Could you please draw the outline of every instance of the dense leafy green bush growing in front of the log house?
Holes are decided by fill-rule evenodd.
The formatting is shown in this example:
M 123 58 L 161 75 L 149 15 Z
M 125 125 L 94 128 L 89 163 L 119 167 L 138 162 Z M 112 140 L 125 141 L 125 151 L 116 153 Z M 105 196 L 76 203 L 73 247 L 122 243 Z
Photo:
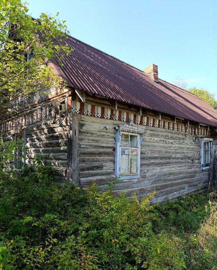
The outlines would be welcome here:
M 41 170 L 1 173 L 4 269 L 185 268 L 180 238 L 152 229 L 152 195 L 139 202 L 113 196 L 112 187 L 60 187 Z

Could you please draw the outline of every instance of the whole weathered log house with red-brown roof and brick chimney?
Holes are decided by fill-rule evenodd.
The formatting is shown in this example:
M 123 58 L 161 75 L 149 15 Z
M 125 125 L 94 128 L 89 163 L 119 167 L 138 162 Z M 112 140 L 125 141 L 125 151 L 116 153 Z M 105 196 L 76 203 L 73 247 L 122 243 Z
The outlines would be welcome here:
M 115 194 L 156 190 L 153 202 L 216 182 L 216 110 L 159 79 L 154 64 L 142 71 L 75 38 L 63 42 L 74 52 L 53 65 L 67 82 L 49 95 L 58 112 L 38 107 L 2 124 L 6 140 L 24 138 L 26 159 L 16 149 L 15 169 L 40 154 L 57 181 L 103 189 L 120 176 Z

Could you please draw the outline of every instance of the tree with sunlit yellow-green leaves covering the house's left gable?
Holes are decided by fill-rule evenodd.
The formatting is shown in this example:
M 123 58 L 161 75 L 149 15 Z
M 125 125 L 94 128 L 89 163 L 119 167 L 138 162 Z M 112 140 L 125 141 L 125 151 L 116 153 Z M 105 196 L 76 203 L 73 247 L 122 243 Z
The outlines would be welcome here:
M 54 75 L 51 63 L 69 48 L 65 20 L 45 13 L 39 19 L 27 14 L 27 3 L 0 0 L 0 123 L 12 121 L 47 100 L 45 93 L 64 82 Z

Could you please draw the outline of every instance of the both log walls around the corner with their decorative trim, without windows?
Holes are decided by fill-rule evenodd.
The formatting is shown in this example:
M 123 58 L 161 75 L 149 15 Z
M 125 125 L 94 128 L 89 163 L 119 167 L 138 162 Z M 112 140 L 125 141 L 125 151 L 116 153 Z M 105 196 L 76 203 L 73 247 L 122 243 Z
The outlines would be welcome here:
M 119 180 L 115 194 L 142 197 L 156 190 L 153 202 L 162 202 L 209 186 L 209 169 L 200 169 L 200 147 L 193 141 L 194 133 L 210 137 L 208 126 L 88 94 L 84 102 L 73 95 L 65 100 L 66 117 L 41 121 L 39 110 L 36 122 L 26 126 L 26 164 L 33 165 L 40 154 L 42 163 L 54 168 L 57 181 L 83 187 L 95 181 L 102 190 L 116 178 L 116 128 L 131 122 L 144 129 L 140 178 Z

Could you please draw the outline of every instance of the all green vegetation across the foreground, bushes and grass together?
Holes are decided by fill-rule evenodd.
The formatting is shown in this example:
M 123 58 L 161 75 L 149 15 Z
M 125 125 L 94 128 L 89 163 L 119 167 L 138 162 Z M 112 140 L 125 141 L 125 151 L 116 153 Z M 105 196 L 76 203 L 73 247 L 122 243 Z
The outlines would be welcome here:
M 151 205 L 51 172 L 1 172 L 0 269 L 217 269 L 216 193 Z

